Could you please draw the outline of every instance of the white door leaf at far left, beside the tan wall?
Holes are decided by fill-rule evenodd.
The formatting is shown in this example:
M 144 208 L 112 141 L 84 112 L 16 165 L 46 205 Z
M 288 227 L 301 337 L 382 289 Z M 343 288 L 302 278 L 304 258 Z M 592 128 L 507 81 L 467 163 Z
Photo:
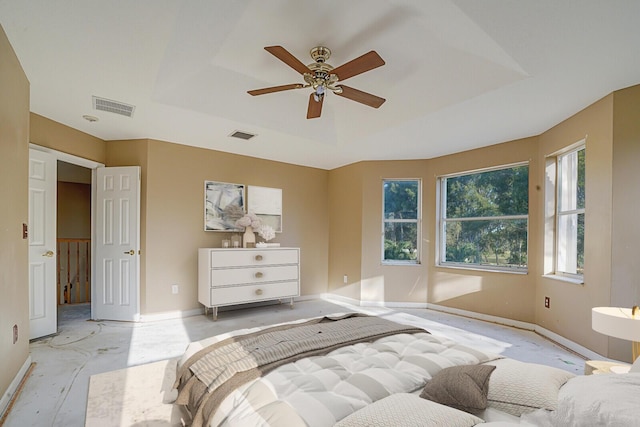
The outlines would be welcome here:
M 56 157 L 29 150 L 29 338 L 56 333 Z

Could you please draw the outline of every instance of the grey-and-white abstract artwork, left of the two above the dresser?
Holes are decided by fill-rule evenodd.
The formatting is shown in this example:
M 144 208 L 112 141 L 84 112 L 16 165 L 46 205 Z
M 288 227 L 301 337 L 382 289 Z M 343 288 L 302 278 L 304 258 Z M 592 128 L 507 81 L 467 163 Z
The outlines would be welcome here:
M 236 220 L 245 211 L 245 188 L 243 184 L 228 182 L 204 182 L 204 230 L 242 231 Z

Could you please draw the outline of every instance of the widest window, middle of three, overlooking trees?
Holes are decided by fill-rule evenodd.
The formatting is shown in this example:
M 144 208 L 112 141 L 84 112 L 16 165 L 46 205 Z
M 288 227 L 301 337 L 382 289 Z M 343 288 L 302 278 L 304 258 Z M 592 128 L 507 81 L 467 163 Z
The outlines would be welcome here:
M 529 166 L 440 178 L 439 265 L 527 270 Z

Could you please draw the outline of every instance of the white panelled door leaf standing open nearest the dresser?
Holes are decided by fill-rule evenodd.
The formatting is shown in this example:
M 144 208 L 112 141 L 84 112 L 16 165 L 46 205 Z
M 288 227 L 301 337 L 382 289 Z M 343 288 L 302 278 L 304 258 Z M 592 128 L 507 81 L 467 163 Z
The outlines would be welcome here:
M 140 167 L 96 169 L 93 318 L 140 320 Z

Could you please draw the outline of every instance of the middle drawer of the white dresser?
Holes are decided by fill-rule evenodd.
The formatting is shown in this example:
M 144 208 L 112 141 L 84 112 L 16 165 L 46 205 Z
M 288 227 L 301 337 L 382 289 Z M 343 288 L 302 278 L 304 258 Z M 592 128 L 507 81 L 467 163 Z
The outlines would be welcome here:
M 220 268 L 211 271 L 211 286 L 298 280 L 297 265 Z

